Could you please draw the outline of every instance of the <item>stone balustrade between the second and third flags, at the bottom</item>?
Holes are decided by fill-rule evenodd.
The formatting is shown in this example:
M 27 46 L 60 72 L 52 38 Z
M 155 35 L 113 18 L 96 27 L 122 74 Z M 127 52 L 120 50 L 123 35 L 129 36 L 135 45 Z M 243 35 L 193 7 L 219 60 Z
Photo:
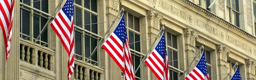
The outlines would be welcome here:
M 75 59 L 75 80 L 103 80 L 104 69 Z

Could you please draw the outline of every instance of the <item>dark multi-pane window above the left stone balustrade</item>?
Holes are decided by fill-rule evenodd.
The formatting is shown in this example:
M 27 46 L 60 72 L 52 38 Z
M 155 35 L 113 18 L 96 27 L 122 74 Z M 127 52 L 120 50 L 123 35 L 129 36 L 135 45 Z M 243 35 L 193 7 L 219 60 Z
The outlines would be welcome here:
M 32 1 L 36 2 L 30 3 Z M 20 37 L 34 42 L 50 16 L 49 2 L 48 0 L 20 0 L 20 2 Z M 38 40 L 38 44 L 48 47 L 47 28 Z

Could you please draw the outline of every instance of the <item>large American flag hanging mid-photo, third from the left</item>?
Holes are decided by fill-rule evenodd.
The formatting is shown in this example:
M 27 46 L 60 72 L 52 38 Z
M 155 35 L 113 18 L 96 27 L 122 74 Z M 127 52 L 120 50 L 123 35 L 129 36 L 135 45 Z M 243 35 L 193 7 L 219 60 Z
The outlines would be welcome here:
M 121 20 L 119 21 L 116 29 L 102 44 L 102 48 L 121 68 L 121 71 L 124 73 L 125 80 L 135 80 L 124 15 L 121 16 Z

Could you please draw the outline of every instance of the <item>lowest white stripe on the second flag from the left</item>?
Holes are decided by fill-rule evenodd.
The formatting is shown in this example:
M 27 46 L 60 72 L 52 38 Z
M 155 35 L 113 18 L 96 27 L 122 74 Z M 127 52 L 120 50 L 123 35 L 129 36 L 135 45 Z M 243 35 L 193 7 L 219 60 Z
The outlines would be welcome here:
M 53 24 L 53 27 L 56 28 L 57 32 L 60 32 L 59 34 L 60 34 L 61 38 L 63 39 L 64 43 L 65 43 L 66 46 L 68 47 L 68 50 L 70 50 L 70 45 L 69 45 L 69 43 L 68 43 L 66 37 L 63 35 L 63 33 L 61 33 L 60 28 L 57 26 L 57 24 L 55 23 L 54 20 L 53 20 L 52 24 Z M 70 51 L 69 51 L 69 52 L 70 52 Z

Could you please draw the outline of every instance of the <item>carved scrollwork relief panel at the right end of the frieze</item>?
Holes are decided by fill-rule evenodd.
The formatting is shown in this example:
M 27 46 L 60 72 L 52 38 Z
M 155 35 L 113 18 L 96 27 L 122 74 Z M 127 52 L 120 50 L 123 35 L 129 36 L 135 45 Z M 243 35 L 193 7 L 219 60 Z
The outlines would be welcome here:
M 227 42 L 239 47 L 240 49 L 245 50 L 246 52 L 248 51 L 248 45 L 247 44 L 241 42 L 240 40 L 237 40 L 234 37 L 231 37 L 230 35 L 226 34 L 226 39 L 225 40 Z

